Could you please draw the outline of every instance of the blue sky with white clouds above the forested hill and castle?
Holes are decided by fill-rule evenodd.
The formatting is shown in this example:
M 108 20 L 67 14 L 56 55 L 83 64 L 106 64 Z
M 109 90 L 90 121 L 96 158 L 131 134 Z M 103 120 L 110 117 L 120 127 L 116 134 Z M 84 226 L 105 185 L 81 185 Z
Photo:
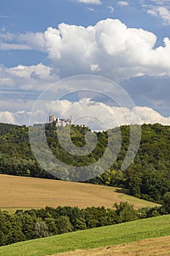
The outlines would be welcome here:
M 85 89 L 98 97 L 74 93 Z M 11 124 L 48 113 L 84 115 L 93 129 L 96 118 L 170 124 L 170 1 L 1 1 L 0 91 L 0 121 Z

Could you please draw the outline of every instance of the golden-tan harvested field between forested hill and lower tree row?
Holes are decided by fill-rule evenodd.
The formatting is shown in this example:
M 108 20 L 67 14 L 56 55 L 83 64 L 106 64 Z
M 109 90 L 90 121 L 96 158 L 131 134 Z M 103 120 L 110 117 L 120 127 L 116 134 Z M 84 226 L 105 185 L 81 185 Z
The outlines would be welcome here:
M 105 206 L 128 201 L 134 208 L 155 206 L 155 203 L 140 200 L 118 192 L 120 189 L 69 181 L 55 181 L 43 178 L 27 178 L 0 175 L 0 208 L 15 211 L 23 208 L 45 206 Z

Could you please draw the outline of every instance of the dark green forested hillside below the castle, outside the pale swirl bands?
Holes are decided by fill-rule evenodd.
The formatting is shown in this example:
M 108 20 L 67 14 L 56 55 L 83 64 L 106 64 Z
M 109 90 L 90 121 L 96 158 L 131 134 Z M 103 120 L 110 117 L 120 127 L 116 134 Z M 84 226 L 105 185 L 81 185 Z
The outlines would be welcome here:
M 121 171 L 120 167 L 128 150 L 130 128 L 123 126 L 120 129 L 122 143 L 117 160 L 106 172 L 85 182 L 122 187 L 130 195 L 162 203 L 163 195 L 170 192 L 170 127 L 161 124 L 143 124 L 139 151 L 134 161 L 124 171 Z M 87 127 L 72 126 L 71 138 L 75 146 L 85 146 L 85 133 L 88 131 Z M 116 129 L 109 131 L 113 137 L 117 136 L 115 131 Z M 58 141 L 55 125 L 46 125 L 46 135 L 53 154 L 68 166 L 90 165 L 100 159 L 107 148 L 107 131 L 96 132 L 98 136 L 96 148 L 83 157 L 64 151 Z M 45 153 L 42 148 L 42 154 Z M 55 172 L 57 176 L 57 173 L 62 173 L 62 170 L 56 166 Z M 98 173 L 98 170 L 90 170 L 90 172 Z M 100 172 L 102 173 L 101 170 Z M 0 124 L 0 173 L 55 178 L 36 162 L 28 140 L 28 127 L 12 124 Z M 81 173 L 71 173 L 70 177 L 63 174 L 62 178 L 76 180 L 79 175 Z

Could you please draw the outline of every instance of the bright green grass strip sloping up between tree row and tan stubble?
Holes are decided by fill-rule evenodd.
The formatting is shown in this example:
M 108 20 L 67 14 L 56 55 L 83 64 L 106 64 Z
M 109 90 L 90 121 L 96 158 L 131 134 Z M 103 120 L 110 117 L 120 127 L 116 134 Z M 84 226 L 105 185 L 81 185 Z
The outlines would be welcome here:
M 170 215 L 81 230 L 0 247 L 3 256 L 46 256 L 77 249 L 129 244 L 170 235 Z

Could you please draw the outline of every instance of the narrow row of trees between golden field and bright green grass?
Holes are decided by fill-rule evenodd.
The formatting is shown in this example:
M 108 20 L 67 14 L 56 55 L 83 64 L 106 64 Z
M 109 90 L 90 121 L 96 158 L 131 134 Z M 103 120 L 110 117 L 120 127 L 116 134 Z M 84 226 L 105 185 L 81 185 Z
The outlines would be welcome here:
M 114 209 L 91 207 L 46 207 L 28 211 L 17 210 L 15 214 L 0 211 L 0 246 L 34 238 L 85 230 L 93 227 L 115 225 L 135 219 L 160 216 L 170 213 L 170 195 L 167 194 L 163 206 L 134 210 L 126 202 Z M 167 200 L 169 204 L 167 204 Z M 169 207 L 167 207 L 169 205 Z

